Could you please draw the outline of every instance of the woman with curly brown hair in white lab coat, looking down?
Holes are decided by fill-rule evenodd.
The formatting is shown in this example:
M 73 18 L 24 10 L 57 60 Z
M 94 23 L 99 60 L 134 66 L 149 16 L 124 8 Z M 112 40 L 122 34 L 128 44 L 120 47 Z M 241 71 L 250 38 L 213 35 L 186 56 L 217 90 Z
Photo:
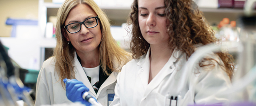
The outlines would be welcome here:
M 111 105 L 187 106 L 228 101 L 215 94 L 231 83 L 231 55 L 208 53 L 193 67 L 193 74 L 183 74 L 197 48 L 219 41 L 193 0 L 134 0 L 130 24 L 133 60 L 117 76 Z M 197 83 L 191 85 L 194 80 Z

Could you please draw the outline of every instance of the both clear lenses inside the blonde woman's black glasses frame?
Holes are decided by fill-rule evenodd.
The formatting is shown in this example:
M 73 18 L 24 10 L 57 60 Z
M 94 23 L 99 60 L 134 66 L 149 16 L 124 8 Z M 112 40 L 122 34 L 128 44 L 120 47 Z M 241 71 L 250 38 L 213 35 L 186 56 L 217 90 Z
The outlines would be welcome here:
M 89 18 L 85 20 L 84 24 L 87 28 L 95 27 L 98 23 L 97 18 Z M 70 33 L 75 33 L 80 30 L 81 25 L 79 23 L 73 23 L 67 26 L 67 29 Z

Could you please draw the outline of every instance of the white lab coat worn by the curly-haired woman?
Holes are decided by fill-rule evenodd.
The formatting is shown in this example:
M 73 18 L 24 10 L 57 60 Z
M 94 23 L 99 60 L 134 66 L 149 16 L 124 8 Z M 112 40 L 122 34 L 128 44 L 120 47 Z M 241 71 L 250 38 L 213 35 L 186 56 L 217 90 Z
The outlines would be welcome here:
M 181 76 L 186 71 L 184 65 L 187 61 L 186 54 L 182 51 L 174 51 L 169 61 L 148 84 L 149 51 L 150 48 L 140 59 L 133 59 L 123 66 L 117 76 L 115 98 L 111 106 L 169 106 L 171 96 L 173 99 L 177 96 L 177 106 L 228 101 L 226 97 L 214 95 L 228 88 L 231 83 L 223 70 L 225 68 L 214 62 L 215 67 L 208 67 L 210 70 L 198 65 L 192 73 L 187 72 L 188 74 Z M 222 63 L 218 55 L 213 53 L 205 57 Z M 191 78 L 181 80 L 186 77 Z M 198 82 L 193 85 L 195 80 Z M 171 104 L 176 106 L 176 101 L 172 100 Z

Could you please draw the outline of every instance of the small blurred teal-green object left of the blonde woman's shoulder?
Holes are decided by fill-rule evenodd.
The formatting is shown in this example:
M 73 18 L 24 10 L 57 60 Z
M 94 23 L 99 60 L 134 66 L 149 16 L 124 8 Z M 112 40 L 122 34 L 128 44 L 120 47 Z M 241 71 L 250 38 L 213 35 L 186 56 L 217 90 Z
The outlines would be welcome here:
M 28 73 L 26 74 L 24 82 L 36 83 L 38 73 L 39 73 L 39 70 L 28 69 Z

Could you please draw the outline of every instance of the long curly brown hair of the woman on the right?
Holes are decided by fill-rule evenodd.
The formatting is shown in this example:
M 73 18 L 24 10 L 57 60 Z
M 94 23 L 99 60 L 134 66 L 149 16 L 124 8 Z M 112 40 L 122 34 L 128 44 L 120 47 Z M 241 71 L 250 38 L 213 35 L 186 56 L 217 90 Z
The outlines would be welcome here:
M 209 44 L 220 42 L 214 37 L 212 28 L 203 16 L 203 12 L 198 9 L 198 6 L 193 0 L 164 0 L 166 21 L 169 21 L 167 33 L 170 36 L 169 48 L 183 51 L 187 55 L 187 59 L 194 53 L 195 44 Z M 130 31 L 132 39 L 130 42 L 130 51 L 134 59 L 139 59 L 141 55 L 147 53 L 150 45 L 143 38 L 139 28 L 139 9 L 138 0 L 134 0 L 132 4 L 132 12 L 130 12 L 129 24 L 132 25 Z M 227 75 L 232 79 L 234 71 L 234 63 L 232 55 L 228 53 L 216 53 L 223 61 Z M 199 66 L 204 61 L 212 59 L 203 59 Z

